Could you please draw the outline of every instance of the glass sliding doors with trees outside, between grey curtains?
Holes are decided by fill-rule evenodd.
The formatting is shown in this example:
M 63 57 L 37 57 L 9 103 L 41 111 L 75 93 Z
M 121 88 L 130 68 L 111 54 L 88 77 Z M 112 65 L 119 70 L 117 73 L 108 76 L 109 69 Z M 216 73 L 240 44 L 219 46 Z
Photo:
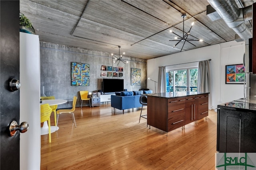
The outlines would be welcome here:
M 198 67 L 166 71 L 166 92 L 197 91 Z

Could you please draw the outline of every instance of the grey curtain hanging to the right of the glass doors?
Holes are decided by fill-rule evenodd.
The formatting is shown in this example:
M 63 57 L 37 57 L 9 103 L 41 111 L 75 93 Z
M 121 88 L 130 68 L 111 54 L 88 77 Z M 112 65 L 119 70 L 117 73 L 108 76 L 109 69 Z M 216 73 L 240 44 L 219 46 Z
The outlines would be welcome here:
M 198 64 L 198 81 L 197 81 L 197 91 L 198 92 L 209 92 L 209 108 L 212 108 L 212 76 L 210 69 L 210 61 L 199 61 Z

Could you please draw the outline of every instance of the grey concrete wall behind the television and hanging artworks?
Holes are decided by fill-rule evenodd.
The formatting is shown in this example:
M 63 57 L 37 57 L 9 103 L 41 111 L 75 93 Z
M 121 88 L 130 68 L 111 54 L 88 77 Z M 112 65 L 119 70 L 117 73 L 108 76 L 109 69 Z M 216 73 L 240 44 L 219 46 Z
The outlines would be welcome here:
M 120 53 L 123 53 L 120 49 Z M 113 51 L 118 54 L 118 51 Z M 77 106 L 80 106 L 79 91 L 94 92 L 102 89 L 102 79 L 112 77 L 101 77 L 101 65 L 113 67 L 123 67 L 123 77 L 114 77 L 124 79 L 124 89 L 128 91 L 146 88 L 147 85 L 147 61 L 132 57 L 123 57 L 128 61 L 118 65 L 112 61 L 110 53 L 101 51 L 92 51 L 88 49 L 70 47 L 54 43 L 40 42 L 40 65 L 41 65 L 41 86 L 44 86 L 46 96 L 55 96 L 56 99 L 67 99 L 68 103 L 58 105 L 58 108 L 72 107 L 72 99 L 78 97 Z M 90 85 L 89 86 L 71 86 L 71 63 L 90 64 Z M 131 68 L 141 69 L 141 86 L 131 85 Z M 33 78 L 33 77 L 32 77 Z M 83 105 L 88 105 L 83 102 Z

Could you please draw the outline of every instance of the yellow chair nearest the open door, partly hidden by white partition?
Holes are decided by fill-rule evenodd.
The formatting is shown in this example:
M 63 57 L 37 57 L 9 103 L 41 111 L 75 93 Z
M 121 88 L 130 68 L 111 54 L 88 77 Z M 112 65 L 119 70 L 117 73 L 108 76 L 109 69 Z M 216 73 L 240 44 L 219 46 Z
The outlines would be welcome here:
M 49 128 L 49 143 L 51 142 L 51 121 L 50 116 L 52 113 L 52 108 L 48 103 L 41 105 L 41 123 L 48 121 Z

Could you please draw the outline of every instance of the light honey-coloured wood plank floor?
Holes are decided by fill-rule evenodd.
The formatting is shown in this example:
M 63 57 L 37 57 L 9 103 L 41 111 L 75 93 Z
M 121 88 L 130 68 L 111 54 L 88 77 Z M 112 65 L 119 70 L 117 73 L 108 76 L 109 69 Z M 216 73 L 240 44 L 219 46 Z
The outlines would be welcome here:
M 217 113 L 168 132 L 147 127 L 140 108 L 114 115 L 110 104 L 76 107 L 59 117 L 59 130 L 41 136 L 41 170 L 214 170 Z M 143 107 L 142 114 L 146 113 Z M 52 114 L 53 115 L 53 114 Z M 51 117 L 51 124 L 54 119 Z

